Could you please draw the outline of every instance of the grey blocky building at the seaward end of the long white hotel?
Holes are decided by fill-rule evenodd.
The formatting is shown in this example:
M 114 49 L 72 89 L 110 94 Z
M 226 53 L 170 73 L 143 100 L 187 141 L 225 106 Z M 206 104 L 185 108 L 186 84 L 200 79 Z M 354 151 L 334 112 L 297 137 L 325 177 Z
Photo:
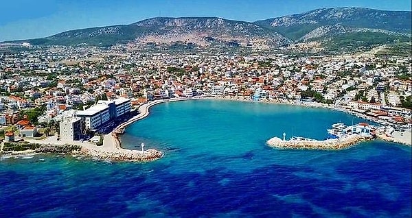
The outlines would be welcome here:
M 60 140 L 76 141 L 82 136 L 82 119 L 79 117 L 70 117 L 60 121 Z

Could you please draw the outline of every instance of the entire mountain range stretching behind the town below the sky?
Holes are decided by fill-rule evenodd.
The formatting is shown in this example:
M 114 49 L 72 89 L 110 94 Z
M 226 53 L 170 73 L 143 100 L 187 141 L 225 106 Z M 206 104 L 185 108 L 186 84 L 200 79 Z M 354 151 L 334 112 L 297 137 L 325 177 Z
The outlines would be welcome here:
M 45 38 L 6 43 L 91 46 L 183 43 L 201 47 L 217 45 L 271 48 L 313 40 L 324 43 L 336 37 L 354 36 L 354 33 L 380 38 L 376 42 L 366 43 L 367 45 L 408 40 L 411 37 L 411 12 L 354 7 L 320 8 L 255 22 L 217 16 L 153 17 L 128 25 L 73 29 Z M 382 36 L 388 36 L 387 40 L 382 39 Z

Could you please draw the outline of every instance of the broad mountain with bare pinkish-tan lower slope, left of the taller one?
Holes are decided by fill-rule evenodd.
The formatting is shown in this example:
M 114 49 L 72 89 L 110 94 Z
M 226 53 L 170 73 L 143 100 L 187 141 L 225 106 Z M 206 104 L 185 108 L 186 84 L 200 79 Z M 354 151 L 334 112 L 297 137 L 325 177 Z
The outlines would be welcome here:
M 282 46 L 290 43 L 288 38 L 260 25 L 216 17 L 161 17 L 146 19 L 130 25 L 76 29 L 46 38 L 21 40 L 20 42 L 23 41 L 32 45 L 87 44 L 95 46 L 116 43 L 175 42 L 198 45 L 209 45 L 211 42 L 249 45 L 259 42 L 268 46 Z

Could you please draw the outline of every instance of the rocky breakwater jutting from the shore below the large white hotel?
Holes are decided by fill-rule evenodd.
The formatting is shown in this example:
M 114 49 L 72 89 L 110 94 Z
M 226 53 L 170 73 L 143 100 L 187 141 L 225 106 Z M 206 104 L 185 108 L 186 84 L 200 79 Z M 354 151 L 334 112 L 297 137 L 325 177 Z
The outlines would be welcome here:
M 148 149 L 144 152 L 119 149 L 118 151 L 98 151 L 95 149 L 83 148 L 80 154 L 93 160 L 110 160 L 110 161 L 130 161 L 130 162 L 146 162 L 157 160 L 163 156 L 162 152 L 155 149 Z

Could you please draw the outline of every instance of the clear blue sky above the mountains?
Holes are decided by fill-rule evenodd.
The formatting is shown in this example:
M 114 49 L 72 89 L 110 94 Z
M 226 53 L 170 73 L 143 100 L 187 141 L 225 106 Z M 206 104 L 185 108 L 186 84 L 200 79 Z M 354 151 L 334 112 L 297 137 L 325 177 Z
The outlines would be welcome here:
M 411 0 L 2 0 L 0 41 L 41 38 L 155 16 L 219 16 L 257 21 L 317 8 L 411 10 Z

